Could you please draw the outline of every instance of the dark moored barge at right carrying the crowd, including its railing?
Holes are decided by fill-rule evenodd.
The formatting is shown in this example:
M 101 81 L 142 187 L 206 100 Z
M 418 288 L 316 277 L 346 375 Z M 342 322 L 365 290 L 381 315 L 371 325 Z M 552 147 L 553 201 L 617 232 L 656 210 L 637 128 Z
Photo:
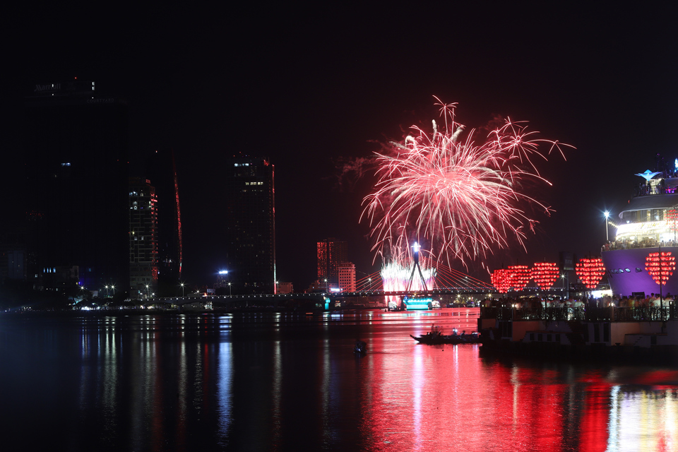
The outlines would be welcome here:
M 667 307 L 482 307 L 483 352 L 630 363 L 678 363 L 678 313 Z

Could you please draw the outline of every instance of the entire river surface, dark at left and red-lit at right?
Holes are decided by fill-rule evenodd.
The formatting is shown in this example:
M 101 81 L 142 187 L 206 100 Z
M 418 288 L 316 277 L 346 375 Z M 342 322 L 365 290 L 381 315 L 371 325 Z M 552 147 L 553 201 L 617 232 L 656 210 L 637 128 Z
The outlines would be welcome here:
M 677 369 L 410 338 L 477 315 L 0 316 L 3 450 L 678 451 Z

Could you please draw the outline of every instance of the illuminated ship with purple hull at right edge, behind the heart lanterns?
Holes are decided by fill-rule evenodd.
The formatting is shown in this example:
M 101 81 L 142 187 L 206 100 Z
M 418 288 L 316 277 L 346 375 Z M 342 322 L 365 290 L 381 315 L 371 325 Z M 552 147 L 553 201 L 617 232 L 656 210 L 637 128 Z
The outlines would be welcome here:
M 675 174 L 675 173 L 674 173 Z M 610 289 L 614 295 L 630 296 L 634 292 L 678 294 L 678 273 L 672 264 L 667 268 L 666 284 L 646 268 L 648 258 L 678 256 L 676 218 L 678 210 L 678 174 L 665 176 L 664 172 L 649 170 L 637 176 L 643 181 L 635 189 L 634 198 L 619 213 L 619 224 L 614 239 L 602 246 L 602 261 L 607 270 Z M 652 255 L 659 253 L 658 255 Z M 669 254 L 670 253 L 670 254 Z

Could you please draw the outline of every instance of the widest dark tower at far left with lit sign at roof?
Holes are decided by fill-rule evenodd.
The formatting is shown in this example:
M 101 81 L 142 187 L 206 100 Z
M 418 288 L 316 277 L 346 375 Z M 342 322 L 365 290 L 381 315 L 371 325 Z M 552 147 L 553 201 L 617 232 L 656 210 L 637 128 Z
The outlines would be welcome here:
M 46 278 L 55 272 L 93 290 L 129 283 L 128 109 L 95 88 L 39 84 L 26 98 L 27 273 L 36 287 L 57 288 Z

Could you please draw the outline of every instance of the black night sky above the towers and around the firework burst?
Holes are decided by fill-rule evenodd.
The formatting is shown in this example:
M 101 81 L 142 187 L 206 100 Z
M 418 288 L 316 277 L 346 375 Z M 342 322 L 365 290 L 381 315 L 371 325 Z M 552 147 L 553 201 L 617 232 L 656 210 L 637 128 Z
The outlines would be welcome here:
M 503 115 L 576 146 L 540 164 L 553 187 L 538 196 L 555 213 L 536 217 L 528 254 L 500 252 L 491 266 L 596 254 L 602 212 L 617 219 L 634 174 L 658 153 L 678 157 L 678 7 L 467 3 L 12 6 L 0 202 L 15 211 L 21 188 L 23 97 L 77 76 L 129 101 L 133 169 L 174 149 L 187 283 L 211 285 L 221 268 L 220 179 L 237 153 L 275 165 L 278 279 L 306 288 L 326 237 L 349 242 L 360 278 L 379 268 L 358 223 L 373 181 L 340 184 L 337 162 L 412 124 L 429 130 L 436 95 L 458 102 L 469 128 Z M 470 271 L 489 282 L 479 264 Z

